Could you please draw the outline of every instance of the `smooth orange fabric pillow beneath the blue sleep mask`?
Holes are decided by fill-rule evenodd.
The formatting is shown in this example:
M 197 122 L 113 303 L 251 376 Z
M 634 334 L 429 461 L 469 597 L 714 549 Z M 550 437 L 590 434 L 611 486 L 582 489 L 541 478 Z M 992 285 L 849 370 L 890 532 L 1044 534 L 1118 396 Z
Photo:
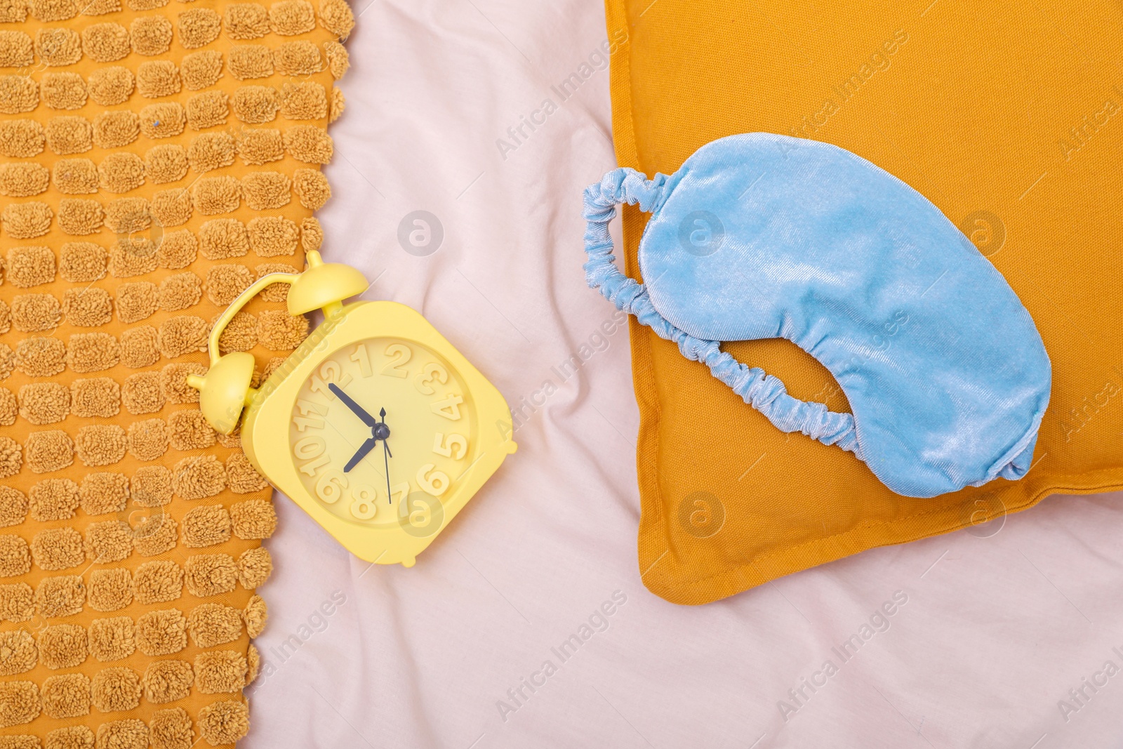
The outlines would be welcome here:
M 874 0 L 606 7 L 620 165 L 670 174 L 737 133 L 847 148 L 964 230 L 1030 310 L 1053 366 L 1023 479 L 915 500 L 848 453 L 779 432 L 631 320 L 639 565 L 652 593 L 706 603 L 871 547 L 976 527 L 1053 492 L 1123 488 L 1123 146 L 1114 134 L 1123 89 L 1108 83 L 1120 38 L 1105 9 L 1074 2 L 1042 16 L 933 3 L 887 17 Z M 645 222 L 623 210 L 626 268 L 637 278 Z M 789 341 L 725 350 L 796 398 L 849 410 L 827 369 Z

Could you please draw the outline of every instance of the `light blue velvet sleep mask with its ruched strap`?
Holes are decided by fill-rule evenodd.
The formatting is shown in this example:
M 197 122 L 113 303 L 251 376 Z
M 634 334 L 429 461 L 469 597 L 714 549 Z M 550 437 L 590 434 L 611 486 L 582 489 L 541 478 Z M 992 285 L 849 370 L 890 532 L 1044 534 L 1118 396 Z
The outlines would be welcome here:
M 923 195 L 848 150 L 754 133 L 673 175 L 629 168 L 585 190 L 588 285 L 785 432 L 865 460 L 891 490 L 935 496 L 1029 471 L 1051 367 L 1030 313 Z M 617 203 L 651 213 L 637 284 L 612 256 Z M 787 394 L 719 341 L 786 338 L 853 414 Z

